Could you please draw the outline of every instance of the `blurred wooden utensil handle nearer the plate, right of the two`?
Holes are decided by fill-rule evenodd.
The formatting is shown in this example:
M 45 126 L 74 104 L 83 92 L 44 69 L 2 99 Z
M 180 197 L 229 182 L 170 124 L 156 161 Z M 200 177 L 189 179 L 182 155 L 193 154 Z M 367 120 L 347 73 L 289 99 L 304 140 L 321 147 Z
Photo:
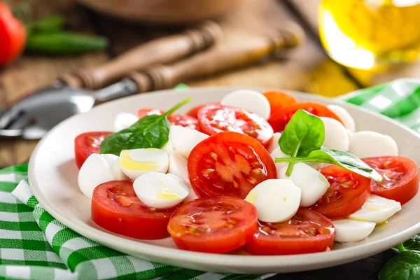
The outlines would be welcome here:
M 302 29 L 290 25 L 273 36 L 252 38 L 238 45 L 207 50 L 169 66 L 158 65 L 143 72 L 130 73 L 128 77 L 137 83 L 139 92 L 162 90 L 190 78 L 253 64 L 278 50 L 299 45 L 303 38 Z

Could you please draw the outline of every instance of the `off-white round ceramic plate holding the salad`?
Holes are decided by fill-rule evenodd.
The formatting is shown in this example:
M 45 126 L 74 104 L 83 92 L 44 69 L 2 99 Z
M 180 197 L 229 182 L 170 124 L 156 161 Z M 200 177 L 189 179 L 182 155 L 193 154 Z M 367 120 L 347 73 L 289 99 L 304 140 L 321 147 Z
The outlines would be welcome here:
M 169 109 L 181 99 L 193 97 L 181 111 L 207 102 L 218 102 L 235 88 L 197 88 L 192 90 L 165 90 L 151 94 L 119 99 L 78 116 L 73 116 L 51 130 L 38 144 L 29 161 L 29 181 L 38 201 L 58 221 L 72 230 L 118 251 L 169 265 L 214 272 L 268 273 L 296 272 L 331 267 L 360 260 L 394 246 L 420 232 L 420 195 L 402 207 L 389 223 L 374 230 L 365 241 L 337 245 L 335 250 L 306 255 L 219 255 L 195 253 L 177 249 L 172 239 L 140 241 L 113 235 L 90 220 L 90 200 L 78 189 L 78 169 L 74 160 L 73 140 L 89 131 L 113 130 L 117 113 L 135 113 L 141 107 Z M 262 91 L 262 89 L 260 89 Z M 324 104 L 337 103 L 311 94 L 295 93 L 301 101 Z M 358 130 L 372 130 L 388 134 L 398 143 L 400 155 L 420 164 L 420 135 L 398 125 L 391 119 L 363 111 L 356 106 L 342 104 L 353 116 Z

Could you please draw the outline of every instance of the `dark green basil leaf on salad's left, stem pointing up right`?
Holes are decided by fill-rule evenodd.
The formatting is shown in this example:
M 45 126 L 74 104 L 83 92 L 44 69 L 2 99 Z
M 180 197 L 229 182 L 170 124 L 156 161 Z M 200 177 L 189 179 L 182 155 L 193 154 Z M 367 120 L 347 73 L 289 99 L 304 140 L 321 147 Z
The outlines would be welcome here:
M 167 116 L 190 101 L 188 97 L 162 115 L 146 116 L 131 127 L 111 134 L 102 141 L 99 153 L 120 155 L 123 150 L 135 148 L 162 148 L 169 140 L 170 124 Z

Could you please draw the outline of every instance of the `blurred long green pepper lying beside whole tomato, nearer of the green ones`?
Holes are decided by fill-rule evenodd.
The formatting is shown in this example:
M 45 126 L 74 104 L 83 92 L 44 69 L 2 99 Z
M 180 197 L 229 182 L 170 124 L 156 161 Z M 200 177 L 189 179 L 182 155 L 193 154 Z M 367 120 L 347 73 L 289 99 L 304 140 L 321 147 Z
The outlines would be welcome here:
M 108 40 L 102 36 L 85 36 L 70 32 L 33 34 L 27 40 L 27 52 L 45 55 L 78 55 L 104 50 Z

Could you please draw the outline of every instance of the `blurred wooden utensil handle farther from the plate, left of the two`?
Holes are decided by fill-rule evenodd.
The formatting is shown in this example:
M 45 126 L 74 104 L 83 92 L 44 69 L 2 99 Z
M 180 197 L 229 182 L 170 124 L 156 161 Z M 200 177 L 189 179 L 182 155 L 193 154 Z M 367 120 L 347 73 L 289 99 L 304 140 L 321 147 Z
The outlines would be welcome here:
M 61 78 L 67 85 L 97 90 L 137 71 L 158 63 L 173 62 L 213 45 L 221 36 L 221 27 L 207 21 L 182 34 L 159 38 L 128 50 L 123 55 L 93 69 L 80 69 Z

